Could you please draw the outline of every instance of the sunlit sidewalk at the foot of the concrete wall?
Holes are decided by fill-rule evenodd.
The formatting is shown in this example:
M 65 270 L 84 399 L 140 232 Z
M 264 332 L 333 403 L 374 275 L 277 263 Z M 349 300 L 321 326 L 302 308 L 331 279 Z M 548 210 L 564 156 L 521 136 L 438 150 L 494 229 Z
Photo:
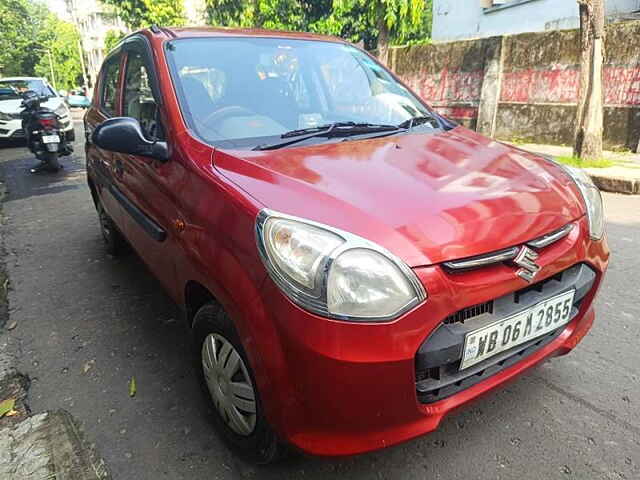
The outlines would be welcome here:
M 570 157 L 572 147 L 535 143 L 517 145 L 523 150 L 554 157 Z M 606 168 L 585 168 L 593 183 L 606 192 L 640 195 L 640 154 L 604 151 L 603 158 L 616 163 Z

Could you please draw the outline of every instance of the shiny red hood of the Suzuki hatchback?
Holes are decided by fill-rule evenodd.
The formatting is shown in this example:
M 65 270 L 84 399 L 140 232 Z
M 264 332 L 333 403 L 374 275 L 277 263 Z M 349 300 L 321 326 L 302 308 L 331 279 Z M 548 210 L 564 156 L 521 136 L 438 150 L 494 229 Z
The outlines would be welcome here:
M 559 167 L 463 127 L 217 150 L 213 162 L 267 208 L 360 235 L 412 267 L 521 244 L 584 213 Z

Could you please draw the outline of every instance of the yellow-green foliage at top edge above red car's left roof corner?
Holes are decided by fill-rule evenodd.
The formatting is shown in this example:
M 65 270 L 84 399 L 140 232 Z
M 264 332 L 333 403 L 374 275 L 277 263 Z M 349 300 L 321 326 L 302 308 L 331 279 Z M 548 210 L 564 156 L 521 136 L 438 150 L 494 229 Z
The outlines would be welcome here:
M 186 22 L 183 0 L 101 0 L 132 30 L 151 25 L 181 26 Z

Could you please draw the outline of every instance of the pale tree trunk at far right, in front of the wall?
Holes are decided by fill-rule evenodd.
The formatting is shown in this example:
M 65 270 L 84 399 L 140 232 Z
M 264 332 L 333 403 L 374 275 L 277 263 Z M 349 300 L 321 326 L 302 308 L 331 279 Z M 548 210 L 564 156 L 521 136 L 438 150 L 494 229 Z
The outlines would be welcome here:
M 580 94 L 573 153 L 602 157 L 604 0 L 578 0 L 580 6 Z

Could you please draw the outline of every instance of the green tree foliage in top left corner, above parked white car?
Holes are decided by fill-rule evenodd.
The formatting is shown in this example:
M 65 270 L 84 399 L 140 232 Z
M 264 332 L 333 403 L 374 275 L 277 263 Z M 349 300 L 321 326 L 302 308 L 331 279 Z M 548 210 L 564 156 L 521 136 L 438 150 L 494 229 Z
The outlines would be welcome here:
M 53 82 L 52 64 L 58 88 L 69 89 L 81 83 L 78 32 L 44 4 L 0 1 L 0 32 L 0 75 L 42 76 Z

